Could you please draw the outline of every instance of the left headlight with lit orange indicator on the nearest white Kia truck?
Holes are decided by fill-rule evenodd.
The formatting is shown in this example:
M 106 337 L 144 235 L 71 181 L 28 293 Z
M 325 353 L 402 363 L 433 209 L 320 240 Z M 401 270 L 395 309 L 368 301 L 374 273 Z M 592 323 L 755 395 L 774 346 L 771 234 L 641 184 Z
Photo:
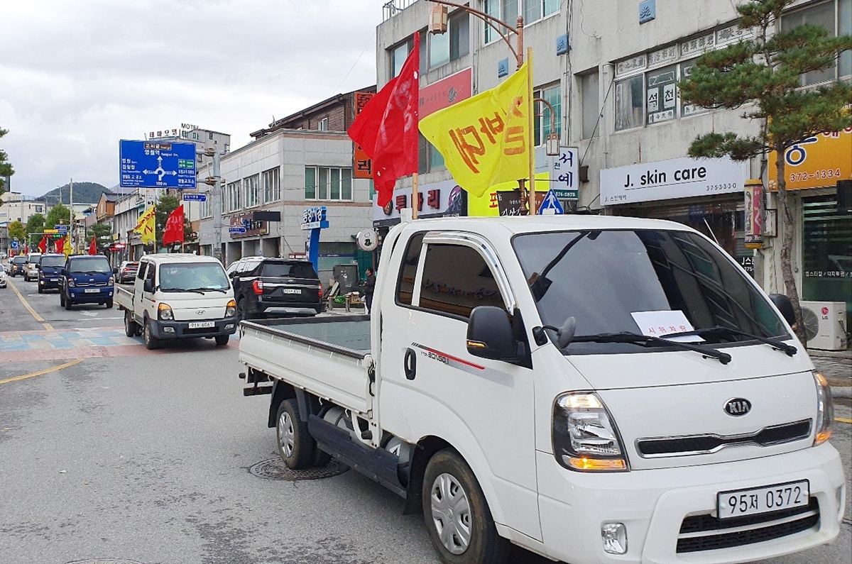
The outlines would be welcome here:
M 628 469 L 618 429 L 597 394 L 572 392 L 556 398 L 553 454 L 556 462 L 570 470 Z

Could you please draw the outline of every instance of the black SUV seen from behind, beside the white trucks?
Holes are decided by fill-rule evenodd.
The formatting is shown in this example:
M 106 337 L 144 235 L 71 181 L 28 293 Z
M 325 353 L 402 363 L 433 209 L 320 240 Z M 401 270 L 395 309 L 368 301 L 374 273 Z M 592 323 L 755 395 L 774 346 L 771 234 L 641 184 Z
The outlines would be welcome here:
M 309 261 L 249 256 L 234 262 L 227 273 L 239 319 L 261 317 L 267 310 L 322 311 L 322 284 Z

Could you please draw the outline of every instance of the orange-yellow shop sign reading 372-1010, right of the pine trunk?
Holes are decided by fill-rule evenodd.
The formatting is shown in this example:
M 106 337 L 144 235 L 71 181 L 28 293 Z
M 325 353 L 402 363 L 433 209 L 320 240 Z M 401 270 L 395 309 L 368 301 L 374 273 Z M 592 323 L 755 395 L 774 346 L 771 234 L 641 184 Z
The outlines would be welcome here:
M 769 153 L 769 190 L 778 190 L 775 161 L 778 153 Z M 820 133 L 793 145 L 785 153 L 786 189 L 837 186 L 852 180 L 852 128 Z

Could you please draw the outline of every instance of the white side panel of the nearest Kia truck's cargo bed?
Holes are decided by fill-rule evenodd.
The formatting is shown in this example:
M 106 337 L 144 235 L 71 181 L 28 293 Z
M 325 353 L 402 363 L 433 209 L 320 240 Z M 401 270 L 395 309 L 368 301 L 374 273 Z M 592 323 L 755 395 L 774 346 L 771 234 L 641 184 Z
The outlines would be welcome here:
M 369 354 L 356 360 L 244 324 L 239 361 L 360 414 L 371 409 Z

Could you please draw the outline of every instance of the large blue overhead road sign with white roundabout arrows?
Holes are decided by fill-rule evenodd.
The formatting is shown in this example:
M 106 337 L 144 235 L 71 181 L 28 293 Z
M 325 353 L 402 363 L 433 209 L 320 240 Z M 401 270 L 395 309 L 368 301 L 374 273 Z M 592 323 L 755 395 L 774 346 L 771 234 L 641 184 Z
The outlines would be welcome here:
M 195 187 L 194 143 L 122 140 L 118 152 L 121 187 Z

